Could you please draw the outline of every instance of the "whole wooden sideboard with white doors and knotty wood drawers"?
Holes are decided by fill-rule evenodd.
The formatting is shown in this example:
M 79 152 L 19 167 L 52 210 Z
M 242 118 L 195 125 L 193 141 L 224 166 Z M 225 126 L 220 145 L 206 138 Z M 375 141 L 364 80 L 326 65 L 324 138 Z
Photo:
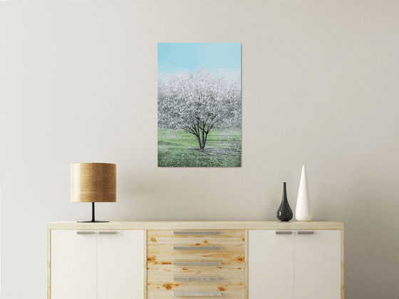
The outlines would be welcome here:
M 48 299 L 342 299 L 343 224 L 48 224 Z

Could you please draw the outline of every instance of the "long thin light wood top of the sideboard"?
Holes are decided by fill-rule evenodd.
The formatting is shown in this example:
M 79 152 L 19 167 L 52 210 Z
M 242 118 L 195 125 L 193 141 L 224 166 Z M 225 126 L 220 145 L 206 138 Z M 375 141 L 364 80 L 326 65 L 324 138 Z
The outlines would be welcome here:
M 53 222 L 47 229 L 343 229 L 330 221 L 110 221 L 105 223 Z

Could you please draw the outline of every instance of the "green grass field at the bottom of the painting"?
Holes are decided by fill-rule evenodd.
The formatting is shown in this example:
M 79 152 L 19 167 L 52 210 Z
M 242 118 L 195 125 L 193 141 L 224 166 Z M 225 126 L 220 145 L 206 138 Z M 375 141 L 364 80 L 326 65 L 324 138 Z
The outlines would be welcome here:
M 241 130 L 211 130 L 204 150 L 187 132 L 158 129 L 158 166 L 240 167 Z

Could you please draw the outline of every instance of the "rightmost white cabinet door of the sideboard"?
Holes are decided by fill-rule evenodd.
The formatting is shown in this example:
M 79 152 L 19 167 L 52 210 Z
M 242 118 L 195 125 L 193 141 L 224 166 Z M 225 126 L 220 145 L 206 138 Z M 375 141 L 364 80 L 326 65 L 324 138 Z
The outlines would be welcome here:
M 341 298 L 341 231 L 295 234 L 295 299 Z

